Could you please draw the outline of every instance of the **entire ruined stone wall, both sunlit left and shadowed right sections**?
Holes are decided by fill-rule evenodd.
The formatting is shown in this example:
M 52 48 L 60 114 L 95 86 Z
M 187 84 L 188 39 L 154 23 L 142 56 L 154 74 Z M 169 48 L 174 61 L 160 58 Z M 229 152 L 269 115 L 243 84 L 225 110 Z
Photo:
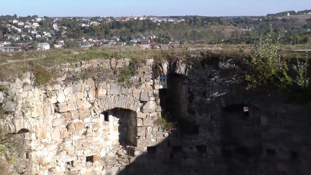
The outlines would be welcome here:
M 99 62 L 114 69 L 129 60 L 94 60 L 86 67 Z M 18 114 L 12 130 L 30 130 L 17 173 L 307 175 L 311 171 L 309 101 L 293 102 L 292 94 L 281 92 L 246 91 L 235 83 L 239 74 L 228 60 L 163 62 L 153 70 L 152 64 L 148 60 L 133 77 L 141 83 L 137 88 L 112 80 L 65 83 L 65 77 L 47 88 L 35 88 L 29 74 L 9 84 L 20 96 L 17 105 L 5 103 Z M 155 79 L 160 74 L 169 74 L 170 100 L 165 103 Z M 23 104 L 32 110 L 23 111 Z M 179 123 L 173 132 L 154 124 L 165 107 Z

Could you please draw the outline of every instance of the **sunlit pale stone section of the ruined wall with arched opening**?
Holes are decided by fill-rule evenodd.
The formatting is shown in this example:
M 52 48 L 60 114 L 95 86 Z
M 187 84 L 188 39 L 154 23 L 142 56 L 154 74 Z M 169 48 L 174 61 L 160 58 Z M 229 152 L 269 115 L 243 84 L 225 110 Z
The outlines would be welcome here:
M 94 66 L 92 62 L 86 67 Z M 112 62 L 122 67 L 129 60 L 104 60 L 104 68 L 111 69 Z M 27 148 L 15 171 L 28 175 L 118 172 L 132 161 L 128 155 L 139 156 L 147 146 L 157 145 L 165 133 L 153 124 L 161 107 L 151 64 L 147 62 L 134 77 L 140 82 L 137 88 L 121 87 L 114 80 L 97 84 L 92 78 L 65 83 L 66 77 L 38 88 L 30 74 L 15 83 L 2 82 L 17 99 L 14 105 L 4 104 L 16 114 L 12 132 L 29 130 L 24 133 Z M 25 105 L 29 111 L 23 111 Z M 131 144 L 123 144 L 124 138 L 121 143 L 119 136 Z

